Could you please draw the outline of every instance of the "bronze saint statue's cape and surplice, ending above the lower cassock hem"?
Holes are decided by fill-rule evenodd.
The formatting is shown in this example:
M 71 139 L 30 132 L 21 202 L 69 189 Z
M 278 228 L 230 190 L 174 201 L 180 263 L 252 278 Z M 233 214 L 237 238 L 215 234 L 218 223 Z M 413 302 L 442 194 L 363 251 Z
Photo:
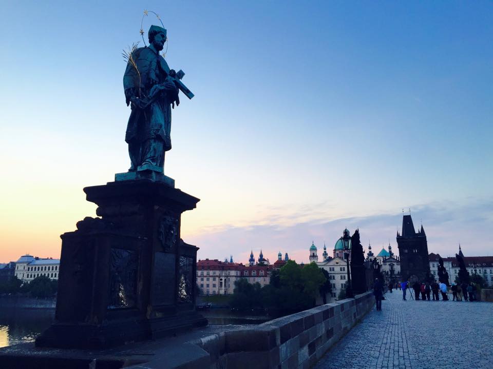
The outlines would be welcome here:
M 154 50 L 152 46 L 139 48 L 132 53 L 138 72 L 131 63 L 127 64 L 123 76 L 123 88 L 125 96 L 129 89 L 135 96 L 144 99 L 150 89 L 156 84 L 164 83 L 169 73 L 166 60 Z M 142 143 L 147 139 L 161 138 L 164 141 L 164 151 L 171 149 L 171 102 L 172 99 L 162 92 L 145 109 L 140 109 L 131 104 L 131 113 L 128 118 L 125 141 L 130 143 Z

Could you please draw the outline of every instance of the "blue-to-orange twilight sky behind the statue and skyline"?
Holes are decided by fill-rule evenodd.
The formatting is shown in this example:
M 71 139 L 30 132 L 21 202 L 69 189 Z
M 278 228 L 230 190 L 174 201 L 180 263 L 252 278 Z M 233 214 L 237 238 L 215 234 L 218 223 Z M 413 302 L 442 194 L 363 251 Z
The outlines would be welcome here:
M 396 251 L 409 208 L 430 252 L 493 255 L 490 1 L 3 1 L 0 262 L 59 257 L 96 216 L 82 189 L 128 169 L 121 52 L 144 9 L 195 93 L 164 171 L 201 199 L 198 258 L 307 262 L 345 227 Z

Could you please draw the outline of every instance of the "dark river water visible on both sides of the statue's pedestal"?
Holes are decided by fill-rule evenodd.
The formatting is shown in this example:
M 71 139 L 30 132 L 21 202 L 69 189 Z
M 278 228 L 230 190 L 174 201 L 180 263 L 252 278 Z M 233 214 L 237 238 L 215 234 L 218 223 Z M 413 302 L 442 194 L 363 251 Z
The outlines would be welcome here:
M 200 313 L 211 325 L 250 325 L 268 320 L 264 316 L 233 314 L 227 309 L 210 309 Z M 50 326 L 54 314 L 54 309 L 27 309 L 0 304 L 0 347 L 34 341 Z

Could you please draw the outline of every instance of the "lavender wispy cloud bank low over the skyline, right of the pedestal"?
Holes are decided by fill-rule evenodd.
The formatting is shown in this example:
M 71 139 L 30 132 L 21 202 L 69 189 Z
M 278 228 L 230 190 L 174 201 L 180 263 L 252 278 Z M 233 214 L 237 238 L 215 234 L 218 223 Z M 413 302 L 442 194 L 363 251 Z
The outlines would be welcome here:
M 369 216 L 345 217 L 327 220 L 310 213 L 307 207 L 299 215 L 284 216 L 281 208 L 272 208 L 271 222 L 262 219 L 261 223 L 236 227 L 225 225 L 214 229 L 202 229 L 201 232 L 186 237 L 187 242 L 199 248 L 199 258 L 219 258 L 233 255 L 235 261 L 246 262 L 250 250 L 258 255 L 262 249 L 264 256 L 271 261 L 277 253 L 288 252 L 297 261 L 308 261 L 308 248 L 312 240 L 321 254 L 324 242 L 331 253 L 336 240 L 347 227 L 351 232 L 359 228 L 365 248 L 371 242 L 374 251 L 387 247 L 388 243 L 397 252 L 395 235 L 402 226 L 402 213 L 383 213 Z M 407 212 L 405 212 L 407 214 Z M 304 217 L 311 219 L 302 220 Z M 453 255 L 461 242 L 467 255 L 491 255 L 493 242 L 482 234 L 490 230 L 493 224 L 493 199 L 470 199 L 467 204 L 454 202 L 429 203 L 411 208 L 416 230 L 423 227 L 428 237 L 428 250 L 442 255 Z M 282 225 L 279 220 L 292 223 Z M 296 221 L 298 220 L 298 221 Z

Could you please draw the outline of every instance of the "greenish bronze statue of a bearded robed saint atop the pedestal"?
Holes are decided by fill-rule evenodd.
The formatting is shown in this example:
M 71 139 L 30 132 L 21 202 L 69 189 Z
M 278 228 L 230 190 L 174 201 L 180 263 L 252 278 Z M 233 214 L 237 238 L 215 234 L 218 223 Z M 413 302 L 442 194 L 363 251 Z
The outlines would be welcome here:
M 171 150 L 171 109 L 178 106 L 179 80 L 159 52 L 166 42 L 166 30 L 151 26 L 149 46 L 129 54 L 123 88 L 131 113 L 125 141 L 131 166 L 129 172 L 163 173 L 164 153 Z

